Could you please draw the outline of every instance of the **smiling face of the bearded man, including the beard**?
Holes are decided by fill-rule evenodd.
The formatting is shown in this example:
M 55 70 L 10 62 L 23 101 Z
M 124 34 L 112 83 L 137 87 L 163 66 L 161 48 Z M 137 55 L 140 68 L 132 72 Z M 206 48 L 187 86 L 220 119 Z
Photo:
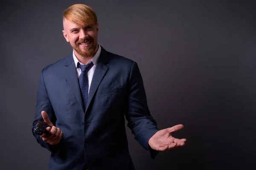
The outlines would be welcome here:
M 79 25 L 63 18 L 63 35 L 70 42 L 78 57 L 93 57 L 98 50 L 98 23 L 81 23 Z

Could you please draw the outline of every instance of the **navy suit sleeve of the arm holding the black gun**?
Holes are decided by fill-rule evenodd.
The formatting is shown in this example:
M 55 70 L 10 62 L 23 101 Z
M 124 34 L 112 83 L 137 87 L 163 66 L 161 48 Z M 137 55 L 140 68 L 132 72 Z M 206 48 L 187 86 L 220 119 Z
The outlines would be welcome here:
M 39 85 L 38 85 L 38 92 L 37 92 L 37 103 L 36 103 L 36 111 L 35 111 L 35 119 L 32 124 L 32 133 L 35 136 L 37 142 L 44 148 L 48 149 L 51 153 L 57 154 L 59 152 L 59 148 L 56 146 L 53 146 L 51 144 L 48 144 L 47 142 L 43 141 L 41 136 L 34 133 L 34 128 L 36 125 L 36 121 L 38 119 L 43 119 L 41 115 L 41 111 L 46 111 L 46 113 L 49 116 L 50 121 L 53 125 L 55 125 L 56 122 L 56 116 L 52 108 L 52 104 L 50 102 L 50 99 L 48 97 L 47 89 L 44 84 L 44 69 L 41 71 L 40 78 L 39 78 Z

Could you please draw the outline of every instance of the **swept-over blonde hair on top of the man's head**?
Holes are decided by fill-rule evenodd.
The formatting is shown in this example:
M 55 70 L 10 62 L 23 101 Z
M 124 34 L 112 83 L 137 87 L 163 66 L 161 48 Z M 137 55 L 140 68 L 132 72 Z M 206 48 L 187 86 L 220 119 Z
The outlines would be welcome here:
M 79 26 L 82 24 L 94 25 L 98 22 L 93 9 L 84 4 L 75 4 L 68 7 L 63 13 L 64 18 Z

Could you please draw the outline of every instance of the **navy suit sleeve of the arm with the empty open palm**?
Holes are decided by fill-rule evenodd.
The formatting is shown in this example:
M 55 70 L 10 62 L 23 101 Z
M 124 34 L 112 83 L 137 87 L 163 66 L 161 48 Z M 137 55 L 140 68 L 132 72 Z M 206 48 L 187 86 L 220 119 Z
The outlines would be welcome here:
M 149 112 L 143 79 L 136 62 L 132 65 L 128 82 L 128 111 L 125 117 L 135 139 L 154 159 L 158 151 L 150 148 L 148 140 L 158 131 L 157 123 Z

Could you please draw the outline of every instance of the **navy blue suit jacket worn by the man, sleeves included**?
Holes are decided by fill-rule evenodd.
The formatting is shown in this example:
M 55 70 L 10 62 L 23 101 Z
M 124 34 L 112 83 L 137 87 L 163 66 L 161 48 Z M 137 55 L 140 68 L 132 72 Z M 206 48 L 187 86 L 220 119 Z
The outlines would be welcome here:
M 52 146 L 34 134 L 51 152 L 50 170 L 134 170 L 128 151 L 125 118 L 135 139 L 154 158 L 148 140 L 157 132 L 146 101 L 143 80 L 136 62 L 102 48 L 88 94 L 82 107 L 72 54 L 41 71 L 35 121 L 46 111 L 63 131 Z M 32 128 L 33 128 L 32 127 Z

